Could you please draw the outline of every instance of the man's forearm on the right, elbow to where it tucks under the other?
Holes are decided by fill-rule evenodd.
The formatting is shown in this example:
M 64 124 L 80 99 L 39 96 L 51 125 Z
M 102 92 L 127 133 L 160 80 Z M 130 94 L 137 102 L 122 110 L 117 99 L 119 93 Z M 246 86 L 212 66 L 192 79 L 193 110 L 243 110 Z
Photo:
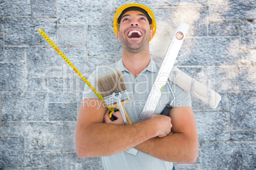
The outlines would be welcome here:
M 152 138 L 134 148 L 161 160 L 192 164 L 198 153 L 196 138 L 197 136 L 191 138 L 183 133 L 175 133 L 164 138 Z

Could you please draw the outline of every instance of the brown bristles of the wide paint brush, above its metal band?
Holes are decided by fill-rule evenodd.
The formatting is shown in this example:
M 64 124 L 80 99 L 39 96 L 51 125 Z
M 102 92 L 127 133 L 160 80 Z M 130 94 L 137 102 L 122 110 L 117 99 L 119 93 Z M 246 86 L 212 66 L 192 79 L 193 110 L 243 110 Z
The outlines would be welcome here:
M 99 74 L 95 78 L 96 86 L 101 96 L 110 96 L 126 89 L 122 72 L 120 70 L 110 70 Z

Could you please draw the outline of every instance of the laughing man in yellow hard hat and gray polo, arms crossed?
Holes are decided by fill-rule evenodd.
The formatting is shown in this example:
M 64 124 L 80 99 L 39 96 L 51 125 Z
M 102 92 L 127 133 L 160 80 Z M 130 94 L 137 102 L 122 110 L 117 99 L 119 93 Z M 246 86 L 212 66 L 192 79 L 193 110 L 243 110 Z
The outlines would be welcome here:
M 172 98 L 168 86 L 164 86 L 161 105 L 152 119 L 138 122 L 159 71 L 149 52 L 149 41 L 156 30 L 153 12 L 141 4 L 121 6 L 114 18 L 114 30 L 123 54 L 109 68 L 122 71 L 131 97 L 125 110 L 132 124 L 125 126 L 120 112 L 114 113 L 116 121 L 110 121 L 102 101 L 85 86 L 76 126 L 78 157 L 102 157 L 103 169 L 172 169 L 171 162 L 194 163 L 198 152 L 197 130 L 187 92 L 170 82 L 176 99 L 169 116 L 159 115 Z M 93 77 L 104 71 L 99 69 L 89 77 L 93 86 Z M 131 148 L 138 153 L 125 152 Z

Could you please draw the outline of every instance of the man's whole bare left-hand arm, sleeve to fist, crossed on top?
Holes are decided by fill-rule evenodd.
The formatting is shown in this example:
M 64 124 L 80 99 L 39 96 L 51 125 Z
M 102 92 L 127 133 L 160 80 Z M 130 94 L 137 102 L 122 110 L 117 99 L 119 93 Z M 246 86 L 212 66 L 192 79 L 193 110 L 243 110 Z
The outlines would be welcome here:
M 99 99 L 88 99 L 83 102 L 97 100 Z M 125 126 L 115 124 L 122 119 L 120 117 L 112 124 L 108 114 L 106 107 L 81 105 L 76 124 L 78 157 L 118 154 L 155 136 L 164 137 L 171 131 L 171 118 L 164 115 L 153 115 L 148 121 Z

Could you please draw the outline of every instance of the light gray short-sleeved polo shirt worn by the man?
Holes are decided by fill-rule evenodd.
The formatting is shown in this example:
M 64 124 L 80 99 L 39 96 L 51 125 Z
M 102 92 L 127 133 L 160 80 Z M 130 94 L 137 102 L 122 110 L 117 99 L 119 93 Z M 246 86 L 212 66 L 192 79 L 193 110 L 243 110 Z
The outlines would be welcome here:
M 90 75 L 88 81 L 97 89 L 94 83 L 94 77 L 96 75 L 106 72 L 112 69 L 120 69 L 122 71 L 125 86 L 127 88 L 127 93 L 122 95 L 121 99 L 130 97 L 131 100 L 125 103 L 125 110 L 134 124 L 138 122 L 139 115 L 141 114 L 143 107 L 146 103 L 146 99 L 150 93 L 153 86 L 153 82 L 157 77 L 159 72 L 159 65 L 150 59 L 148 66 L 135 77 L 129 70 L 124 67 L 122 58 L 115 64 L 99 67 Z M 191 107 L 190 95 L 187 91 L 184 91 L 179 86 L 169 81 L 171 89 L 173 90 L 175 100 L 173 102 L 173 107 Z M 85 90 L 83 91 L 83 99 L 85 98 L 98 98 L 93 91 L 85 85 Z M 157 103 L 157 108 L 154 114 L 160 114 L 162 110 L 166 107 L 166 104 L 173 100 L 173 94 L 171 93 L 169 86 L 167 84 L 162 88 L 162 95 L 160 96 L 159 102 Z M 180 113 L 182 114 L 182 113 Z M 157 148 L 155 148 L 157 149 Z M 110 157 L 102 157 L 103 169 L 119 170 L 119 169 L 171 169 L 173 163 L 166 162 L 160 159 L 156 159 L 143 152 L 138 152 L 137 155 L 131 155 L 126 152 L 121 152 L 116 155 L 111 155 Z

